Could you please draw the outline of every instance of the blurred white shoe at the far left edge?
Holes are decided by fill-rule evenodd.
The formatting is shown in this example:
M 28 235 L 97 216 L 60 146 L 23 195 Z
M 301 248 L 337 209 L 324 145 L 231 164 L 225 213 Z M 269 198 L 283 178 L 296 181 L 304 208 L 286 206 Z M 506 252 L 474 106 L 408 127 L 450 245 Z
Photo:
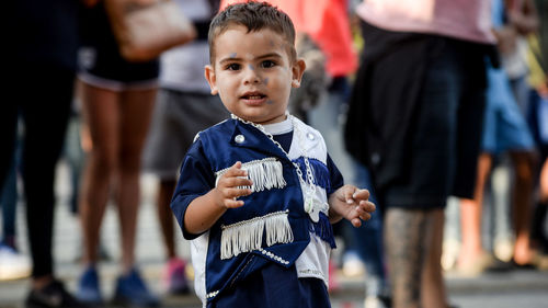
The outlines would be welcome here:
M 11 281 L 31 275 L 31 260 L 11 247 L 0 246 L 0 281 Z

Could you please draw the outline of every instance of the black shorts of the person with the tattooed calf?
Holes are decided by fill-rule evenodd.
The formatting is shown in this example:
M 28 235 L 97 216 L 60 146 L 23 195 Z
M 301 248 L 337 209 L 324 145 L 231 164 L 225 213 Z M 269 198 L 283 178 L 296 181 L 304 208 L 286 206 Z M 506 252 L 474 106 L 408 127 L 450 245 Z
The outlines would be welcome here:
M 486 93 L 468 83 L 470 75 L 484 72 L 483 67 L 464 70 L 450 45 L 445 48 L 425 73 L 409 176 L 385 190 L 387 206 L 436 208 L 449 195 L 473 196 Z

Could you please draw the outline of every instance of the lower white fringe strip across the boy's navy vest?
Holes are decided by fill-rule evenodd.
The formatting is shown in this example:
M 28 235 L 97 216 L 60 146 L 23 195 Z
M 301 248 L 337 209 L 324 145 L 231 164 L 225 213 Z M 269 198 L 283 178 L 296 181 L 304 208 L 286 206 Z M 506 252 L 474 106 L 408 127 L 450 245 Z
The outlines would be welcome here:
M 220 259 L 230 259 L 242 252 L 258 250 L 266 232 L 266 246 L 293 242 L 289 210 L 279 210 L 252 219 L 221 226 Z

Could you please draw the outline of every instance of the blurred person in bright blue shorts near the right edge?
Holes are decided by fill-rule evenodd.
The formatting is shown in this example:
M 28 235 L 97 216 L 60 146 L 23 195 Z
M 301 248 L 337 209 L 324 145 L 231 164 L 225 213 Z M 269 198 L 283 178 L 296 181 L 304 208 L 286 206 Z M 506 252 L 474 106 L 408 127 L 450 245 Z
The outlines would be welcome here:
M 512 172 L 514 179 L 511 181 L 513 187 L 510 202 L 514 244 L 510 258 L 513 258 L 513 262 L 521 266 L 532 263 L 534 256 L 529 244 L 529 229 L 533 207 L 533 174 L 537 158 L 533 137 L 524 115 L 527 103 L 526 93 L 528 92 L 526 84 L 528 67 L 525 58 L 527 43 L 524 41 L 524 36 L 537 28 L 538 20 L 532 0 L 492 0 L 491 3 L 494 34 L 502 59 L 502 68 L 487 65 L 487 107 L 476 192 L 473 199 L 460 202 L 463 242 L 457 270 L 467 276 L 481 273 L 492 263 L 481 241 L 483 191 L 491 174 L 493 160 L 506 152 L 514 171 Z M 525 94 L 522 94 L 523 92 Z M 501 217 L 495 223 L 504 225 L 504 221 L 500 220 L 506 219 L 506 206 L 498 202 L 493 205 L 494 215 Z M 505 235 L 505 230 L 500 228 L 495 228 L 495 231 L 494 248 L 496 253 L 496 250 L 501 249 L 502 242 L 506 240 L 505 237 L 511 237 L 511 235 Z M 496 254 L 502 256 L 504 253 L 501 251 Z

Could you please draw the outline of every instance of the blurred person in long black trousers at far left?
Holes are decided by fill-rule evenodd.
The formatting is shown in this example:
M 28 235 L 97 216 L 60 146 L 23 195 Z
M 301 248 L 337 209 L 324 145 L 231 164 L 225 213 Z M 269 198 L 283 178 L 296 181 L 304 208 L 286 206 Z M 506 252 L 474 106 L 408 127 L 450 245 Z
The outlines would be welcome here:
M 55 167 L 73 93 L 78 4 L 72 0 L 22 0 L 10 2 L 7 9 L 11 31 L 4 87 L 15 99 L 0 104 L 0 186 L 13 162 L 21 115 L 21 174 L 33 262 L 26 307 L 83 307 L 56 278 L 52 255 Z

